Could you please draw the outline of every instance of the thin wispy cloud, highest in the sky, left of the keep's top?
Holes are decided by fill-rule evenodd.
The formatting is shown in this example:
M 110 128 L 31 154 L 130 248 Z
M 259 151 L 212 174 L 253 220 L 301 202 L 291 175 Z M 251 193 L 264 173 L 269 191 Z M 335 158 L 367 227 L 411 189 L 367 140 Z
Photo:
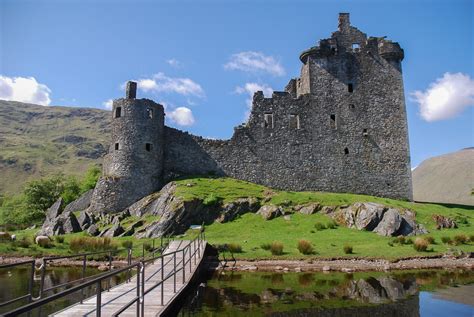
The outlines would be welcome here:
M 224 68 L 244 72 L 266 72 L 274 76 L 285 75 L 285 69 L 273 56 L 253 51 L 233 54 Z

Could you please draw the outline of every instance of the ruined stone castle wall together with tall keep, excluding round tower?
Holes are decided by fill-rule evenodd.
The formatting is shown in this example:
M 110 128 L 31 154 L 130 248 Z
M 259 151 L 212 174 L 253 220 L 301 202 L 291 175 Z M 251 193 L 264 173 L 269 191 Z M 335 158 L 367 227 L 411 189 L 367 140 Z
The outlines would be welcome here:
M 402 59 L 398 43 L 367 39 L 342 14 L 331 38 L 302 53 L 301 78 L 286 92 L 254 95 L 249 121 L 230 140 L 167 128 L 165 178 L 215 173 L 279 189 L 412 199 Z

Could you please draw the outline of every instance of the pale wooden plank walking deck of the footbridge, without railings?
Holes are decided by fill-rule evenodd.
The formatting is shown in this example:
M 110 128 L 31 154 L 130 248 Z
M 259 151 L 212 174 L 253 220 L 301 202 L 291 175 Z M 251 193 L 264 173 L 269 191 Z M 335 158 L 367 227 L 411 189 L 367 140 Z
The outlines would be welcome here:
M 186 246 L 189 241 L 172 241 L 168 248 L 163 252 L 164 256 L 164 277 L 168 276 L 173 272 L 174 267 L 174 255 L 168 255 L 167 253 L 172 253 L 177 250 L 181 250 Z M 194 245 L 191 243 L 191 254 L 194 253 L 197 249 L 197 244 Z M 201 248 L 200 257 L 196 253 L 196 258 L 190 261 L 191 269 L 189 263 L 186 265 L 185 272 L 185 281 L 183 283 L 183 271 L 180 270 L 176 274 L 176 293 L 174 292 L 174 277 L 171 276 L 164 282 L 164 292 L 163 292 L 163 305 L 161 305 L 161 286 L 156 287 L 150 293 L 146 294 L 144 297 L 144 316 L 160 316 L 161 312 L 168 305 L 170 305 L 173 299 L 184 290 L 188 282 L 193 277 L 196 272 L 197 267 L 200 265 L 205 249 L 205 242 L 203 242 L 203 247 Z M 189 249 L 188 249 L 189 250 Z M 186 260 L 189 259 L 189 252 L 186 252 Z M 176 253 L 176 263 L 180 263 L 183 259 L 183 252 Z M 196 261 L 195 261 L 196 260 Z M 178 268 L 182 267 L 182 264 L 177 265 Z M 161 281 L 161 259 L 155 261 L 155 263 L 150 263 L 145 267 L 145 292 L 152 286 L 155 286 Z M 101 315 L 102 316 L 111 316 L 116 313 L 119 309 L 129 303 L 137 296 L 137 276 L 131 278 L 130 282 L 124 282 L 119 284 L 109 291 L 105 290 L 102 292 L 101 296 Z M 96 296 L 83 301 L 83 303 L 74 304 L 66 309 L 63 309 L 53 316 L 97 316 L 96 311 L 97 299 Z M 127 310 L 125 310 L 120 316 L 137 316 L 137 304 L 131 305 Z

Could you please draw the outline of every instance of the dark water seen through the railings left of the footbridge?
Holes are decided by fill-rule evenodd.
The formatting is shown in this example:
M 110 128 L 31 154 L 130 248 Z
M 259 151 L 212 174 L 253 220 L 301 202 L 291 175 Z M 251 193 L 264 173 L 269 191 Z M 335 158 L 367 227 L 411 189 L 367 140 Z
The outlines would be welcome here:
M 5 302 L 13 298 L 17 298 L 28 293 L 28 281 L 30 278 L 30 268 L 28 266 L 14 268 L 14 269 L 1 269 L 0 270 L 0 302 Z M 102 273 L 94 268 L 86 269 L 86 276 L 93 276 Z M 82 276 L 82 267 L 50 267 L 46 271 L 45 275 L 45 289 L 55 285 L 60 285 L 72 280 L 78 280 Z M 110 280 L 110 286 L 114 286 L 121 283 L 126 276 L 124 274 L 120 276 L 114 276 Z M 40 285 L 40 273 L 35 273 L 35 282 L 33 284 L 33 296 L 38 297 Z M 76 284 L 77 285 L 77 284 Z M 108 282 L 102 284 L 103 288 L 108 287 Z M 64 290 L 64 288 L 55 289 L 46 293 L 46 296 L 58 293 Z M 96 287 L 92 286 L 84 290 L 85 297 L 89 297 L 96 293 Z M 74 303 L 80 301 L 81 293 L 72 293 L 63 298 L 57 299 L 48 305 L 39 309 L 35 309 L 31 316 L 46 316 L 50 313 L 59 311 L 65 307 L 68 307 Z M 0 308 L 0 314 L 10 311 L 14 308 L 27 304 L 27 300 L 21 300 L 8 306 Z

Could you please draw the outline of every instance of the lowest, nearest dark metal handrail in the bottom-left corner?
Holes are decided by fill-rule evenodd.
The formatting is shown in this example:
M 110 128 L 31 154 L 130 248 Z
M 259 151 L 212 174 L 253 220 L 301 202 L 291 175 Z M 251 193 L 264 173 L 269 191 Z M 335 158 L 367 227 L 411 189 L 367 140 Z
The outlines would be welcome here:
M 64 297 L 66 295 L 69 295 L 69 294 L 72 294 L 72 293 L 75 293 L 77 291 L 81 291 L 83 290 L 84 288 L 86 287 L 89 287 L 89 286 L 92 286 L 92 285 L 97 285 L 97 291 L 96 291 L 96 298 L 97 298 L 97 307 L 96 307 L 96 315 L 97 316 L 100 316 L 101 314 L 101 295 L 102 295 L 102 281 L 104 281 L 105 279 L 109 279 L 117 274 L 120 274 L 120 273 L 123 273 L 123 272 L 126 272 L 128 270 L 131 270 L 133 268 L 137 268 L 137 276 L 139 276 L 140 274 L 140 268 L 141 268 L 141 262 L 136 262 L 136 263 L 133 263 L 131 265 L 128 265 L 124 268 L 121 268 L 121 269 L 118 269 L 118 270 L 114 270 L 114 271 L 111 271 L 109 273 L 107 273 L 106 275 L 104 276 L 101 276 L 101 277 L 98 277 L 98 278 L 95 278 L 91 281 L 88 281 L 88 282 L 85 282 L 85 283 L 82 283 L 80 285 L 77 285 L 77 286 L 74 286 L 74 287 L 71 287 L 71 288 L 68 288 L 64 291 L 61 291 L 61 292 L 58 292 L 56 294 L 53 294 L 51 296 L 48 296 L 48 297 L 45 297 L 45 298 L 42 298 L 42 299 L 39 299 L 37 301 L 34 301 L 32 303 L 29 303 L 25 306 L 22 306 L 22 307 L 19 307 L 19 308 L 16 308 L 12 311 L 9 311 L 7 313 L 4 313 L 3 316 L 4 317 L 10 317 L 10 316 L 17 316 L 19 314 L 23 314 L 23 313 L 27 313 L 27 312 L 30 312 L 32 311 L 33 309 L 35 308 L 39 308 L 45 304 L 48 304 L 56 299 L 59 299 L 61 297 Z M 139 279 L 138 279 L 139 280 Z M 138 308 L 137 308 L 138 310 Z

